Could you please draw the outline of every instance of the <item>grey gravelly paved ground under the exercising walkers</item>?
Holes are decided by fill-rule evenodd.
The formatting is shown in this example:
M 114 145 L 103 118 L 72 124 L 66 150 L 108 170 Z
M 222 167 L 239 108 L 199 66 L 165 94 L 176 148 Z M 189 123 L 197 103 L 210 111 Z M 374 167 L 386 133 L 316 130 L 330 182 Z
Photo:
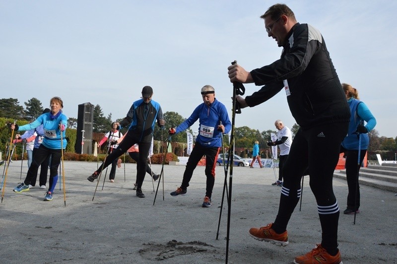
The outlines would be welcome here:
M 156 173 L 161 171 L 161 165 L 152 167 Z M 45 190 L 37 187 L 21 194 L 12 192 L 21 182 L 21 163 L 10 164 L 0 203 L 0 263 L 225 263 L 226 198 L 216 240 L 223 167 L 216 168 L 209 208 L 201 207 L 204 167 L 195 170 L 187 196 L 174 198 L 169 193 L 181 184 L 185 166 L 164 166 L 164 198 L 161 182 L 154 205 L 150 177 L 146 176 L 143 184 L 146 198 L 137 198 L 132 191 L 135 164 L 126 164 L 126 181 L 122 164 L 116 182 L 106 179 L 103 190 L 102 175 L 94 200 L 96 181 L 90 183 L 86 178 L 96 170 L 97 163 L 65 161 L 64 168 L 66 206 L 59 185 L 53 201 L 43 201 Z M 22 180 L 26 172 L 25 162 Z M 275 219 L 280 188 L 271 186 L 273 182 L 273 169 L 234 167 L 229 263 L 291 263 L 295 256 L 320 243 L 319 216 L 308 176 L 302 209 L 298 203 L 288 225 L 289 245 L 277 247 L 249 236 L 250 227 L 264 226 Z M 336 178 L 333 182 L 343 211 L 347 184 Z M 361 186 L 361 200 L 355 225 L 354 215 L 341 213 L 339 217 L 343 263 L 397 263 L 397 197 Z

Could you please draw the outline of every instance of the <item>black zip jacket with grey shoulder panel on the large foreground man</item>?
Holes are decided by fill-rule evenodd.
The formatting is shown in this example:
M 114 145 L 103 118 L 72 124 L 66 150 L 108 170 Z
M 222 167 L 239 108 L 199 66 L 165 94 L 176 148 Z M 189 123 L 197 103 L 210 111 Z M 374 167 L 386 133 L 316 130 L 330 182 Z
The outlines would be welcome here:
M 296 23 L 287 40 L 279 60 L 251 71 L 255 84 L 265 86 L 247 96 L 247 104 L 265 102 L 285 84 L 289 108 L 300 127 L 349 122 L 346 96 L 320 31 Z

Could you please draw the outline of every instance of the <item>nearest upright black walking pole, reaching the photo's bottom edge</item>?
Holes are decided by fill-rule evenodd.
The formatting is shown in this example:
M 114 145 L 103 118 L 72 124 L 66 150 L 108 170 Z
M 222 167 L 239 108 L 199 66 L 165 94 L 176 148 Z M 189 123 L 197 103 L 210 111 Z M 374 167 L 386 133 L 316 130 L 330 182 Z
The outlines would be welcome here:
M 237 64 L 237 61 L 232 62 L 232 65 Z M 245 88 L 241 82 L 233 82 L 233 106 L 232 106 L 232 132 L 230 133 L 229 152 L 234 149 L 234 123 L 236 114 L 241 114 L 240 105 L 236 100 L 236 95 L 244 95 Z M 236 109 L 237 108 L 237 109 Z M 234 153 L 233 153 L 234 154 Z M 230 155 L 228 159 L 230 158 Z M 232 159 L 230 160 L 232 162 Z M 229 256 L 229 234 L 230 234 L 230 211 L 232 207 L 232 181 L 233 181 L 233 166 L 230 166 L 229 177 L 229 202 L 227 208 L 227 235 L 226 235 L 226 263 Z

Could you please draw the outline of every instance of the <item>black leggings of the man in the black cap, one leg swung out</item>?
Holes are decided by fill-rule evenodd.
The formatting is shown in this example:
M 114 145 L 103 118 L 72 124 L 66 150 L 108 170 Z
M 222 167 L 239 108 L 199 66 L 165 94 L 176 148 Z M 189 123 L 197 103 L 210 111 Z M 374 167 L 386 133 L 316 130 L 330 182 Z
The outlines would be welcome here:
M 136 184 L 137 184 L 137 188 L 141 189 L 143 180 L 145 179 L 147 155 L 149 154 L 151 141 L 139 142 L 138 139 L 133 137 L 133 132 L 131 131 L 126 134 L 126 136 L 124 137 L 123 141 L 121 141 L 119 146 L 106 157 L 105 162 L 104 163 L 102 162 L 102 165 L 98 168 L 96 172 L 100 173 L 102 169 L 108 167 L 115 159 L 123 155 L 123 153 L 125 153 L 130 147 L 132 147 L 132 145 L 136 143 L 138 144 L 139 147 L 139 156 L 136 162 L 137 163 Z

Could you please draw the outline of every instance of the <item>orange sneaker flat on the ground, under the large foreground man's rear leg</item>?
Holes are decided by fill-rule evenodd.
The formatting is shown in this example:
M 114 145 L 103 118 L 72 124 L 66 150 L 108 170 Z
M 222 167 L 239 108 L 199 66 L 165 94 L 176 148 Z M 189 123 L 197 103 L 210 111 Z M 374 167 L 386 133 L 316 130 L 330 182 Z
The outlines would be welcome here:
M 320 244 L 311 252 L 298 256 L 294 260 L 295 264 L 343 264 L 340 258 L 340 251 L 335 256 L 331 256 Z

